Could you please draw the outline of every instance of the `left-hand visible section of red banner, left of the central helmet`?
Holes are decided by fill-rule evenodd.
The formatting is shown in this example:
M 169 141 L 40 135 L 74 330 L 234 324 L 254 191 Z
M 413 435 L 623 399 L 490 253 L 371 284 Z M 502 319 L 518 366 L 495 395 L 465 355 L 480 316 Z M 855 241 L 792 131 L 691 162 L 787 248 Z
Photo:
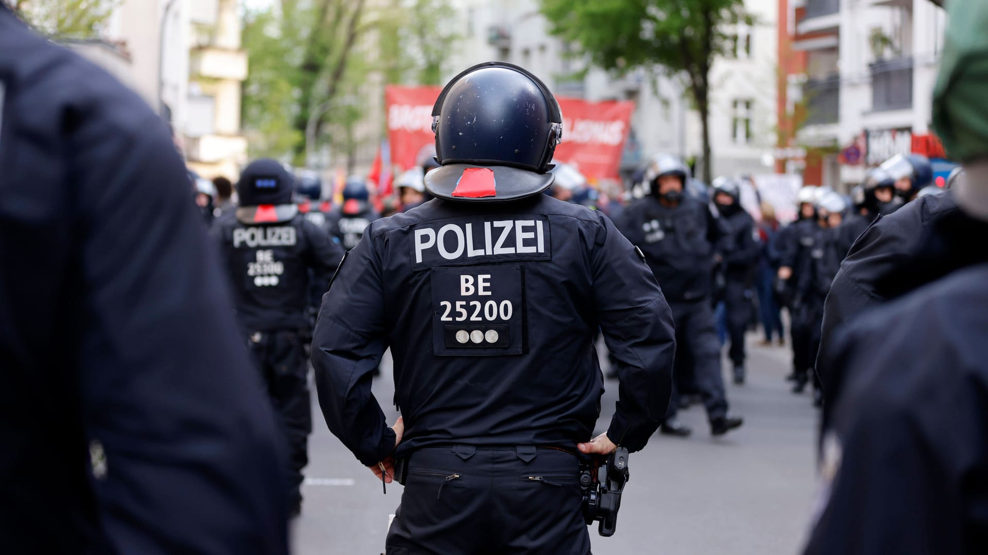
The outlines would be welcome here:
M 391 143 L 391 164 L 405 171 L 415 166 L 423 146 L 434 144 L 432 107 L 442 87 L 384 88 L 387 105 L 387 140 Z

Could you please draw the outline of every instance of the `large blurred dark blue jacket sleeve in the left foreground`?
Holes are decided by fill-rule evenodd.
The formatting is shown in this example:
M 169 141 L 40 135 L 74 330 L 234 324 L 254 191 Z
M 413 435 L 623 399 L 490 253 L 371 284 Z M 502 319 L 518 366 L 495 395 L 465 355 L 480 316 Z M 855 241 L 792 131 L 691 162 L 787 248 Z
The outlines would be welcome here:
M 287 553 L 277 423 L 186 170 L 143 110 L 129 132 L 77 115 L 63 145 L 85 299 L 67 345 L 91 458 L 106 461 L 100 523 L 120 553 Z

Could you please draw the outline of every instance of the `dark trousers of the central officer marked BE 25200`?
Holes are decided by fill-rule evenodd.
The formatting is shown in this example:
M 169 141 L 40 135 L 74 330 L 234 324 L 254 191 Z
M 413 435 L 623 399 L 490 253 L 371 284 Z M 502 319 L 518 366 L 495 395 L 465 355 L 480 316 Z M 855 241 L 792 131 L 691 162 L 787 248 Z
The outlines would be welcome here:
M 404 464 L 386 555 L 590 553 L 574 454 L 457 444 L 421 448 Z

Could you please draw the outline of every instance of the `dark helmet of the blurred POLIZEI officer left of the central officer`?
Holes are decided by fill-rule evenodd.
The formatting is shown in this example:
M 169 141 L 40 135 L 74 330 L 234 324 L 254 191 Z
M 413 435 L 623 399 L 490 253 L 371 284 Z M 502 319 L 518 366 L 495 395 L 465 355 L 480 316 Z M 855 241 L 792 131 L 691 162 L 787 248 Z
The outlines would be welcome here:
M 237 219 L 243 223 L 288 221 L 298 206 L 291 201 L 294 180 L 280 162 L 270 158 L 255 160 L 244 168 L 237 182 Z

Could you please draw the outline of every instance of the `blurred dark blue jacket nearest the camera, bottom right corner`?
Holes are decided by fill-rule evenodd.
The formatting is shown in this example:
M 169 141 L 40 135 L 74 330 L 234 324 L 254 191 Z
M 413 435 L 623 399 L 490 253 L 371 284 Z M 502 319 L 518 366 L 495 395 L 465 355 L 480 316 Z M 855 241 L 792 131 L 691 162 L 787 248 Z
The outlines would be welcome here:
M 805 555 L 988 553 L 986 282 L 986 265 L 956 271 L 864 314 L 821 354 L 847 378 L 824 439 L 829 503 Z

